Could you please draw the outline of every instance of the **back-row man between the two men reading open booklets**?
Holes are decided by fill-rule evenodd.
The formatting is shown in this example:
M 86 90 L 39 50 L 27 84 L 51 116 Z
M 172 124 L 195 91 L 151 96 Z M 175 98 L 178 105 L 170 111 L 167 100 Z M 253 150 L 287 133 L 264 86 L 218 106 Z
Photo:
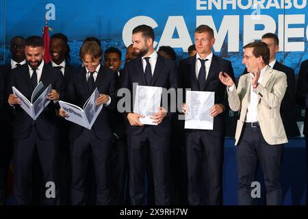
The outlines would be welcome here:
M 64 85 L 68 84 L 68 80 L 73 75 L 75 68 L 69 64 L 70 47 L 68 39 L 64 34 L 53 34 L 50 38 L 49 52 L 51 55 L 50 65 L 53 68 L 61 70 L 64 75 Z M 60 202 L 61 205 L 68 205 L 70 202 L 70 148 L 68 141 L 69 123 L 66 120 L 59 119 L 60 124 Z

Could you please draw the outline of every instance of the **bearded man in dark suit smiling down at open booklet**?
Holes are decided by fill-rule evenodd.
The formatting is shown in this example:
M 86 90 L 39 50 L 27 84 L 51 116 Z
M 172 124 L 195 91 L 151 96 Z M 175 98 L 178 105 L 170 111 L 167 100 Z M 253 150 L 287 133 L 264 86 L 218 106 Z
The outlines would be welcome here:
M 8 86 L 8 103 L 15 108 L 13 123 L 14 140 L 14 204 L 31 205 L 31 170 L 33 168 L 34 151 L 38 151 L 43 174 L 44 185 L 50 186 L 51 196 L 45 195 L 44 205 L 59 203 L 59 183 L 57 181 L 57 123 L 55 104 L 59 96 L 64 96 L 63 75 L 60 70 L 44 64 L 44 42 L 40 36 L 30 36 L 25 40 L 25 56 L 27 64 L 15 68 L 10 75 Z M 44 108 L 36 120 L 33 120 L 21 107 L 21 101 L 12 94 L 12 86 L 16 87 L 27 99 L 42 81 L 44 86 L 51 84 L 52 90 L 47 95 L 51 102 Z M 47 190 L 49 187 L 47 187 Z M 48 194 L 45 193 L 44 194 Z

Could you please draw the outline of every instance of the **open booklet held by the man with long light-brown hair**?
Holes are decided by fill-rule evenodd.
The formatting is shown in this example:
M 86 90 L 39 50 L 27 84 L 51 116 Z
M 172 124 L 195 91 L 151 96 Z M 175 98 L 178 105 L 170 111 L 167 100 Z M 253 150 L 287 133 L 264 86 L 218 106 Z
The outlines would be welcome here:
M 77 125 L 81 125 L 87 129 L 91 129 L 92 125 L 94 124 L 97 116 L 101 112 L 103 108 L 103 104 L 96 105 L 95 101 L 99 97 L 99 90 L 97 88 L 91 94 L 89 99 L 84 103 L 83 109 L 81 107 L 74 105 L 72 103 L 67 103 L 64 101 L 59 101 L 60 107 L 68 117 L 65 117 L 66 120 L 76 123 Z

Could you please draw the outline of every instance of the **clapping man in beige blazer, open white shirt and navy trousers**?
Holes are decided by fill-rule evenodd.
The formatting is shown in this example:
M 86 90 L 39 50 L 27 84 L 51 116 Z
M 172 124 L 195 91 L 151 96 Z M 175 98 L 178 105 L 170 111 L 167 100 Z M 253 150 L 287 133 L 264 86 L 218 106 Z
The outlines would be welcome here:
M 287 77 L 270 68 L 269 60 L 267 44 L 251 42 L 244 47 L 242 61 L 248 74 L 240 77 L 238 88 L 227 73 L 219 75 L 227 86 L 231 110 L 241 110 L 235 132 L 239 205 L 253 205 L 251 183 L 258 162 L 264 172 L 266 204 L 281 204 L 281 155 L 287 136 L 279 110 Z

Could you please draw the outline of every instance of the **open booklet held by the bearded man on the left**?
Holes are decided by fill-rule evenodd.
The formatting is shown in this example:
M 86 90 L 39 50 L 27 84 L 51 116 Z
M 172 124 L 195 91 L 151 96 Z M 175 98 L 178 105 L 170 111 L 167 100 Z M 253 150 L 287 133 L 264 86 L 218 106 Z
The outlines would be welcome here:
M 42 81 L 38 83 L 31 95 L 31 102 L 14 86 L 12 86 L 13 94 L 21 100 L 21 108 L 25 110 L 33 120 L 36 120 L 40 113 L 49 104 L 47 95 L 51 92 L 51 84 L 47 88 L 44 87 Z

